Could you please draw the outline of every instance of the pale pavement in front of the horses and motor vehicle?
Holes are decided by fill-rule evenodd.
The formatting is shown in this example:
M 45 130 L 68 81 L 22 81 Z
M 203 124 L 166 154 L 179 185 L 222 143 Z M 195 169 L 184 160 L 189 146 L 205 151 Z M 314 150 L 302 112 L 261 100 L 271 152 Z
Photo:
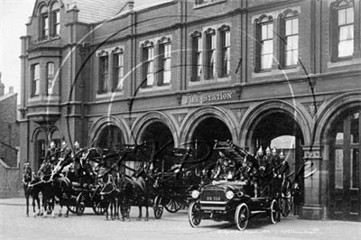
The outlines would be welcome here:
M 346 221 L 311 221 L 282 217 L 280 223 L 269 224 L 254 217 L 245 231 L 227 222 L 204 220 L 192 228 L 187 210 L 163 213 L 162 219 L 136 221 L 137 208 L 132 208 L 131 221 L 106 221 L 95 216 L 91 208 L 85 215 L 69 217 L 25 217 L 24 198 L 0 199 L 0 239 L 361 239 L 361 223 Z

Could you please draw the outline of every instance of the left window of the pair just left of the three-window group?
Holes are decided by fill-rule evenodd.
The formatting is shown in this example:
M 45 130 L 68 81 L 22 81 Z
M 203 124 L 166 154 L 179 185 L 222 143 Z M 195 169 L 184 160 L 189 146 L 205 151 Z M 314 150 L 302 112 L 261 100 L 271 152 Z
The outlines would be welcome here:
M 154 46 L 153 42 L 143 44 L 143 87 L 152 87 L 154 83 Z

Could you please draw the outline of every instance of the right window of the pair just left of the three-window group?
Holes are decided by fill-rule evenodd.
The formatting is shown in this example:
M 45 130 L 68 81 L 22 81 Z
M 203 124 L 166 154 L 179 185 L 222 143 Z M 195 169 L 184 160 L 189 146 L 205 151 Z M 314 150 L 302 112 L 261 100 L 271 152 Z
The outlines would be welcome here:
M 171 83 L 171 42 L 170 39 L 163 39 L 159 45 L 159 79 L 158 85 Z

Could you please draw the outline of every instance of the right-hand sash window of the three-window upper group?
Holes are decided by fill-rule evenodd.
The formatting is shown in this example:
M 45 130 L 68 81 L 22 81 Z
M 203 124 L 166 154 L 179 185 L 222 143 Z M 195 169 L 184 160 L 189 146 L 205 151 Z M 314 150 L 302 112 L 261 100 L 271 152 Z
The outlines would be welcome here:
M 231 67 L 231 32 L 228 26 L 224 26 L 220 29 L 220 77 L 227 77 L 230 73 Z

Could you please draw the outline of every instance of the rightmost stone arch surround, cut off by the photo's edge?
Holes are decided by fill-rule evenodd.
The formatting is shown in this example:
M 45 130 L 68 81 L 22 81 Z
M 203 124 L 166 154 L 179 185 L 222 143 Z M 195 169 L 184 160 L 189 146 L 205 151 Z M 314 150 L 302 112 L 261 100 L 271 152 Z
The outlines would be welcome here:
M 351 92 L 335 97 L 329 102 L 329 104 L 322 105 L 319 108 L 319 117 L 317 118 L 315 124 L 315 143 L 324 143 L 326 140 L 326 134 L 329 133 L 329 129 L 338 115 L 347 108 L 360 106 L 360 103 L 361 92 Z

